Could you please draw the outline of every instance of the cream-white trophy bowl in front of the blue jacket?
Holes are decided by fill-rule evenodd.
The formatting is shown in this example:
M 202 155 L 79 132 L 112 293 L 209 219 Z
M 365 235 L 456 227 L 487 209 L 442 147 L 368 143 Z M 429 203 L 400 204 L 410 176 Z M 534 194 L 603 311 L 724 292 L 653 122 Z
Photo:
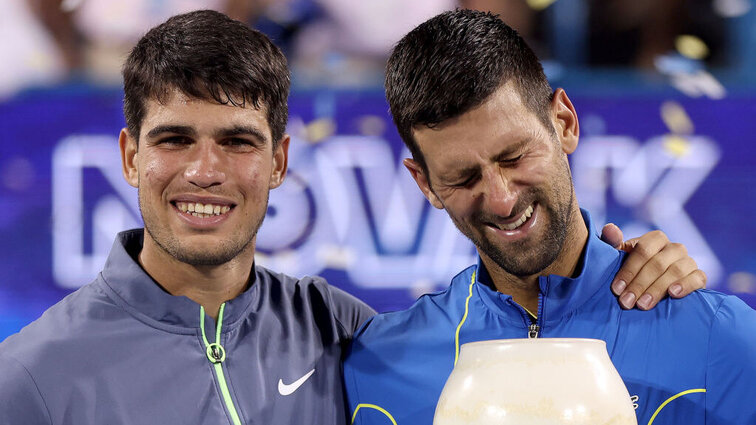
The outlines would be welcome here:
M 464 344 L 434 425 L 637 425 L 625 384 L 596 339 Z

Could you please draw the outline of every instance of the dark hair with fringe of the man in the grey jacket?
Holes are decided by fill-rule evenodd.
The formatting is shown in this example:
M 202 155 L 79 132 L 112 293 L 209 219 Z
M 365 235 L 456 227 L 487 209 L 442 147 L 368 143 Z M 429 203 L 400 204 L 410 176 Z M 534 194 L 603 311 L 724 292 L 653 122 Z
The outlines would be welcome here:
M 123 113 L 139 139 L 148 99 L 172 89 L 234 106 L 265 107 L 274 146 L 286 131 L 286 58 L 264 34 L 212 10 L 174 16 L 151 29 L 123 66 Z

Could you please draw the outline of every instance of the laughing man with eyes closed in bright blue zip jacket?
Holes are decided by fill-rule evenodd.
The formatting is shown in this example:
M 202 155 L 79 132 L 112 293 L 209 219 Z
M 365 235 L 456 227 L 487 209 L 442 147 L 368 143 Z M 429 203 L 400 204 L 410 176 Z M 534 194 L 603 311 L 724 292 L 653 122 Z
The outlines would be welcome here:
M 572 185 L 577 113 L 515 31 L 482 12 L 436 16 L 396 45 L 386 93 L 406 167 L 479 261 L 357 332 L 354 423 L 430 425 L 460 345 L 528 337 L 604 340 L 639 424 L 756 423 L 756 312 L 713 291 L 620 308 L 608 288 L 624 255 L 593 234 Z

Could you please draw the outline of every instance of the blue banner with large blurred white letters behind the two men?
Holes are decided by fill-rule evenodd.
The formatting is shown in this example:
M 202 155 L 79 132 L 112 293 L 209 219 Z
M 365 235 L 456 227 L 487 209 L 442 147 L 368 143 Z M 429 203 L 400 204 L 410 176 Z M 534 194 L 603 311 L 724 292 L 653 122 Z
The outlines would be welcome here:
M 69 87 L 0 103 L 0 340 L 91 281 L 116 232 L 140 226 L 121 175 L 122 94 Z M 756 306 L 756 100 L 577 94 L 582 207 L 627 236 L 661 228 L 709 287 Z M 271 192 L 261 264 L 319 274 L 380 311 L 407 307 L 475 261 L 401 165 L 380 91 L 290 99 L 286 183 Z

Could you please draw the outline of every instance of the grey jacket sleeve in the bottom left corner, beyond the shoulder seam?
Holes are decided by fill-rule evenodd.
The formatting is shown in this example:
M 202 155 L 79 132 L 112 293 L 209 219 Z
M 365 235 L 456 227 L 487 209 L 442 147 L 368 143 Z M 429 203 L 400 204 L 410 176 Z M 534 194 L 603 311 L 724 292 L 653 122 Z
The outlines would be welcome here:
M 0 355 L 0 424 L 52 425 L 29 371 L 4 355 Z

